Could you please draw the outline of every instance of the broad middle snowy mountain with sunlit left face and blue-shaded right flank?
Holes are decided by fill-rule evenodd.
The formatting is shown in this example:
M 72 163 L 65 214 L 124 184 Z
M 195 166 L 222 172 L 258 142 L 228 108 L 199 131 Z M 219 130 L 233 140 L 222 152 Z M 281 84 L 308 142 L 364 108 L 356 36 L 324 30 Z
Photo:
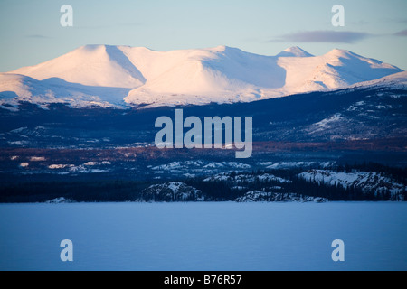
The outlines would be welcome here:
M 182 61 L 158 77 L 147 79 L 125 100 L 158 105 L 256 100 L 265 97 L 261 88 L 284 86 L 285 71 L 276 61 L 275 57 L 225 46 L 185 51 Z

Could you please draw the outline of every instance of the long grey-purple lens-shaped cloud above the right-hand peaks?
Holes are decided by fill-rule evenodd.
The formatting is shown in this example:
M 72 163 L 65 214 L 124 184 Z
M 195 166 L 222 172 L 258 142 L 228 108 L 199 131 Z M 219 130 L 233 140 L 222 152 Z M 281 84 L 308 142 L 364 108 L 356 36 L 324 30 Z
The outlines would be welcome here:
M 350 31 L 306 31 L 289 33 L 270 40 L 270 42 L 331 42 L 355 43 L 372 36 L 370 33 L 355 33 Z

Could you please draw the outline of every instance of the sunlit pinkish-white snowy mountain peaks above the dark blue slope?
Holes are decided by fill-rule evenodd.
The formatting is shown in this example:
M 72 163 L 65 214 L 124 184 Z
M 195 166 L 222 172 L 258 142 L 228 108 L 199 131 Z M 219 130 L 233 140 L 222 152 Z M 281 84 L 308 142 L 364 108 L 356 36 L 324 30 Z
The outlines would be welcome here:
M 72 107 L 248 102 L 345 88 L 401 71 L 337 49 L 313 56 L 291 47 L 276 56 L 263 56 L 227 46 L 152 51 L 87 45 L 51 61 L 1 73 L 0 105 L 15 107 L 21 100 Z

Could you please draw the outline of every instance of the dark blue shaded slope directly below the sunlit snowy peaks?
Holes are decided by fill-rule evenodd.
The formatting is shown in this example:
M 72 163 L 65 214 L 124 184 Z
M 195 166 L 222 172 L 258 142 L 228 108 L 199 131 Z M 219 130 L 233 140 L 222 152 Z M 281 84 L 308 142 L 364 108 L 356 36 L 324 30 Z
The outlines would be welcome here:
M 0 109 L 0 146 L 133 147 L 154 145 L 157 117 L 171 117 L 174 107 L 149 109 L 66 109 L 47 111 L 24 105 L 19 113 Z M 251 103 L 185 106 L 184 117 L 243 116 L 253 119 L 253 142 L 364 144 L 405 151 L 407 89 L 362 87 L 298 94 Z M 25 128 L 24 128 L 25 127 Z M 22 129 L 24 128 L 24 129 Z M 357 145 L 359 145 L 357 144 Z M 274 144 L 273 144 L 274 145 Z M 372 145 L 372 146 L 371 146 Z M 330 148 L 329 148 L 330 149 Z M 317 149 L 316 149 L 317 150 Z

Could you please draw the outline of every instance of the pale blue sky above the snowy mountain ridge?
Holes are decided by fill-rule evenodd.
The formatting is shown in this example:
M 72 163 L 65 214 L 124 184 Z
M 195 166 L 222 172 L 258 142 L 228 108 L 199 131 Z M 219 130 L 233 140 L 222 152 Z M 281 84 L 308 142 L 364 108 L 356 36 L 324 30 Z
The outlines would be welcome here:
M 73 7 L 73 27 L 60 25 L 64 4 Z M 345 7 L 345 27 L 331 24 L 336 4 Z M 315 55 L 341 48 L 407 70 L 406 12 L 406 0 L 0 0 L 0 71 L 85 44 L 228 45 L 264 55 L 296 45 Z

